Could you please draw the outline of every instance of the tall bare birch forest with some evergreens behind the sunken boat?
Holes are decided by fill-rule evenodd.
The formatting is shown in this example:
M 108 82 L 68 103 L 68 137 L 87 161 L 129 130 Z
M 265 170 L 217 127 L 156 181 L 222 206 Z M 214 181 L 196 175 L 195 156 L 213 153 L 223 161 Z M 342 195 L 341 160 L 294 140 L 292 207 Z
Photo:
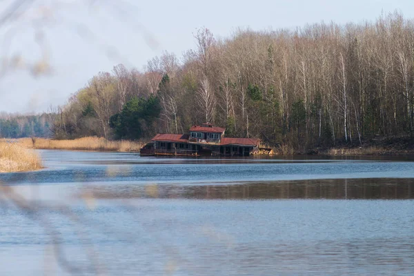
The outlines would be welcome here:
M 413 135 L 414 22 L 401 14 L 226 39 L 200 29 L 195 42 L 181 62 L 166 52 L 144 72 L 99 73 L 62 108 L 55 133 L 139 139 L 210 121 L 298 149 Z

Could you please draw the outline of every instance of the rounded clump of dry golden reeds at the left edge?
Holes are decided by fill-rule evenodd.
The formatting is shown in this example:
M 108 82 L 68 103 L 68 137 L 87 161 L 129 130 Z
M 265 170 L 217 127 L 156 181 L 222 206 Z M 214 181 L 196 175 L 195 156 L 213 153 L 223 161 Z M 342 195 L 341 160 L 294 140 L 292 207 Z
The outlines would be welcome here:
M 34 150 L 21 144 L 0 140 L 0 172 L 39 170 L 41 159 Z

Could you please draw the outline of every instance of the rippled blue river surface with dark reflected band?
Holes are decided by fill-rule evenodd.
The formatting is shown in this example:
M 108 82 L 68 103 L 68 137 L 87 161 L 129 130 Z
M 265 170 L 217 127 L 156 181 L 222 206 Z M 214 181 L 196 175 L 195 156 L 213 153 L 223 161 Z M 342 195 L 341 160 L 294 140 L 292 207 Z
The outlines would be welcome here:
M 414 275 L 414 158 L 41 150 L 0 174 L 0 275 Z

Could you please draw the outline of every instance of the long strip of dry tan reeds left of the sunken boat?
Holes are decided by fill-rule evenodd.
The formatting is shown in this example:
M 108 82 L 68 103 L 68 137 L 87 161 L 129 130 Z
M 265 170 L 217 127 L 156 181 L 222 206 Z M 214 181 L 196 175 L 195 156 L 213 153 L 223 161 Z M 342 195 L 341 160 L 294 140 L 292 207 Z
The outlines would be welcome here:
M 94 150 L 132 152 L 139 150 L 144 143 L 135 141 L 109 141 L 98 137 L 83 137 L 74 140 L 53 140 L 44 138 L 23 138 L 19 142 L 28 148 L 43 150 Z

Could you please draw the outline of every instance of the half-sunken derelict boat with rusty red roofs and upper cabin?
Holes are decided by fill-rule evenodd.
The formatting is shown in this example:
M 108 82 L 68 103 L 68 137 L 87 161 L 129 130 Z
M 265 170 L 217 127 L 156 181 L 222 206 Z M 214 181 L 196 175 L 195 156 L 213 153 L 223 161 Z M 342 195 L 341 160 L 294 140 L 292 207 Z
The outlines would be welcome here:
M 259 152 L 259 139 L 225 137 L 225 131 L 225 128 L 205 123 L 192 126 L 188 134 L 184 135 L 159 133 L 152 138 L 150 152 L 154 152 L 155 156 L 246 156 Z M 144 153 L 148 155 L 148 150 L 144 150 Z

